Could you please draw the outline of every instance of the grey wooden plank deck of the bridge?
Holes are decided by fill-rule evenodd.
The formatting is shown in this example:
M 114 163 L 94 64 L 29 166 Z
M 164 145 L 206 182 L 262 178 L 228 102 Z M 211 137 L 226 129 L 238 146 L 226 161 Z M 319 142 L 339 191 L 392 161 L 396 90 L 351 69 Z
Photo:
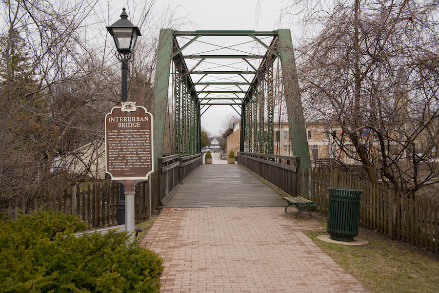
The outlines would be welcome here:
M 165 208 L 285 207 L 287 203 L 237 164 L 203 165 L 181 185 Z

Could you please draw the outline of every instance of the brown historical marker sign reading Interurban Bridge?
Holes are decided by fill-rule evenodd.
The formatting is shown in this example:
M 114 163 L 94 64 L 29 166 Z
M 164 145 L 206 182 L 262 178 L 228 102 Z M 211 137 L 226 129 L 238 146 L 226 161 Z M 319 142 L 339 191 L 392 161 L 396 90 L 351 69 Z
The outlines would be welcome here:
M 135 102 L 105 116 L 105 172 L 111 179 L 147 180 L 154 170 L 153 117 Z

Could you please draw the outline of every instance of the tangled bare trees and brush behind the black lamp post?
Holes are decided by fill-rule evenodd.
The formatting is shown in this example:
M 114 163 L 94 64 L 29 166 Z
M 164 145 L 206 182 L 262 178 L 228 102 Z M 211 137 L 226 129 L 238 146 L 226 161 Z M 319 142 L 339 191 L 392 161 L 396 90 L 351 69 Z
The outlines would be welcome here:
M 80 157 L 75 164 L 81 162 L 83 174 L 54 172 L 68 169 L 60 163 L 62 157 L 75 155 L 78 147 L 102 144 L 104 116 L 120 100 L 120 65 L 116 58 L 106 61 L 109 54 L 114 56 L 113 44 L 110 53 L 105 42 L 102 46 L 86 40 L 90 36 L 85 20 L 96 16 L 96 3 L 0 4 L 7 24 L 0 33 L 0 103 L 7 109 L 0 113 L 2 205 L 16 197 L 27 201 L 50 194 L 64 188 L 72 176 L 97 179 L 90 172 L 96 163 Z M 142 105 L 151 100 L 153 62 L 148 60 L 154 56 L 140 58 L 131 71 L 130 96 Z

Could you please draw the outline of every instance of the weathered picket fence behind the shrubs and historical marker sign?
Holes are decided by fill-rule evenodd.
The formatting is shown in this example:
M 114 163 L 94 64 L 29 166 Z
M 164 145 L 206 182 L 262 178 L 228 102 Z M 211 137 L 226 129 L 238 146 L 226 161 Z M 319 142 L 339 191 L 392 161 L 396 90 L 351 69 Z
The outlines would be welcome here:
M 135 218 L 147 217 L 148 186 L 136 185 Z M 120 184 L 114 181 L 73 184 L 61 192 L 41 195 L 35 199 L 16 197 L 8 202 L 7 218 L 18 218 L 18 208 L 29 214 L 36 209 L 53 209 L 68 214 L 77 213 L 90 229 L 117 225 Z

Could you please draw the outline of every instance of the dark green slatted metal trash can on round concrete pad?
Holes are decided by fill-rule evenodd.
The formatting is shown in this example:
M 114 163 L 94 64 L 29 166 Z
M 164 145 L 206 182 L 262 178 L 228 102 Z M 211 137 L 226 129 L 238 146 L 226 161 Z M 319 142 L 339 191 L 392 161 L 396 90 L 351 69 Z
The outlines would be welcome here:
M 353 241 L 358 235 L 359 203 L 363 190 L 328 188 L 328 223 L 326 232 L 331 239 Z

